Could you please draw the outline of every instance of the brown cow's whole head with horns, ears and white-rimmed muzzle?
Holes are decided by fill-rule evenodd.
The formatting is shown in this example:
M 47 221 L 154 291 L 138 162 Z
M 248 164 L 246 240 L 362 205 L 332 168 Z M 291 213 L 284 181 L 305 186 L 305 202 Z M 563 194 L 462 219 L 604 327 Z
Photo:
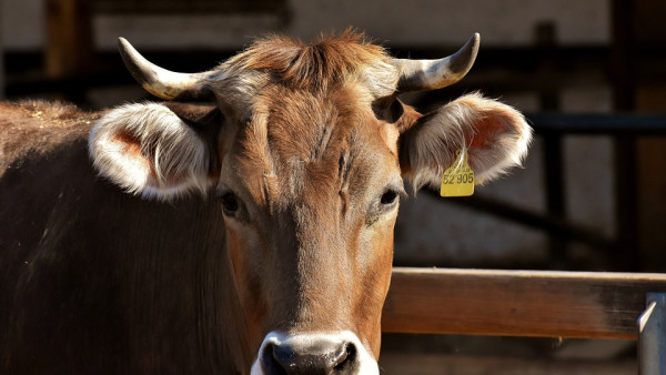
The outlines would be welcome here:
M 215 194 L 252 373 L 377 373 L 381 312 L 404 181 L 438 185 L 466 150 L 481 181 L 524 156 L 529 126 L 478 94 L 425 115 L 396 99 L 460 80 L 474 36 L 441 60 L 390 58 L 345 32 L 313 44 L 273 37 L 185 74 L 121 54 L 168 102 L 120 107 L 90 136 L 97 169 L 145 197 Z

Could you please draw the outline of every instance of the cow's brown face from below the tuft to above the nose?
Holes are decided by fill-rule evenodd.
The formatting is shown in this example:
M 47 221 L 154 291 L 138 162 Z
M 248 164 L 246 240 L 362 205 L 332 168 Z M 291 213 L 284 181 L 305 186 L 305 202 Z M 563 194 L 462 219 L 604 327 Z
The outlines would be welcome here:
M 325 333 L 352 345 L 339 354 L 375 356 L 403 192 L 397 130 L 354 92 L 275 89 L 230 136 L 218 184 L 239 294 L 265 345 Z

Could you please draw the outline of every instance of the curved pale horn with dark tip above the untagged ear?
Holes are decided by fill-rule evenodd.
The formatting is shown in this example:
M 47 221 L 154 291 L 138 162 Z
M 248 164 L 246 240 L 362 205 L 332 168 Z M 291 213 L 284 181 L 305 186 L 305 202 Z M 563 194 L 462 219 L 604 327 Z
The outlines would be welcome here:
M 209 73 L 176 73 L 145 60 L 124 38 L 118 49 L 132 77 L 151 94 L 164 100 L 202 100 L 212 97 L 205 85 Z

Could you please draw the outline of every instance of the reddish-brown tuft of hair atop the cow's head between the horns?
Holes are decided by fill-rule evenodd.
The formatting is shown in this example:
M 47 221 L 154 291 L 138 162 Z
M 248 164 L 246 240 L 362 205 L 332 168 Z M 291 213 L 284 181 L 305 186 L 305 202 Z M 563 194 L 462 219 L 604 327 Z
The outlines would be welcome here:
M 322 33 L 313 43 L 268 36 L 232 58 L 229 65 L 268 71 L 301 90 L 326 89 L 350 77 L 367 79 L 369 75 L 393 89 L 398 74 L 387 59 L 383 47 L 350 28 L 342 33 Z

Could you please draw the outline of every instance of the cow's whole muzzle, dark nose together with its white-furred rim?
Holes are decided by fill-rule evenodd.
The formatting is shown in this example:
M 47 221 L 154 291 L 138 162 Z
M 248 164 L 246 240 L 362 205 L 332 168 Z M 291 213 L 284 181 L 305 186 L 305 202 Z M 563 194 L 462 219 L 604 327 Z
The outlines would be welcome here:
M 379 367 L 352 332 L 271 332 L 261 345 L 252 374 L 379 374 Z

